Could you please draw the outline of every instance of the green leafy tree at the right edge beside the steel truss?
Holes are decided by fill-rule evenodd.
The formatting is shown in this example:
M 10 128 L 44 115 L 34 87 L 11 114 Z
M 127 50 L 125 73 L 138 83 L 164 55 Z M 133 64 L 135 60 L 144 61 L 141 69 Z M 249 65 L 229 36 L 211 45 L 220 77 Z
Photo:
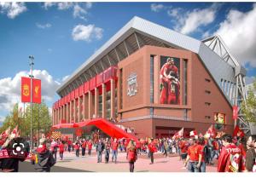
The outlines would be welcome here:
M 241 112 L 249 123 L 256 123 L 256 79 L 253 82 L 253 88 L 249 88 L 247 92 L 247 100 L 241 103 Z

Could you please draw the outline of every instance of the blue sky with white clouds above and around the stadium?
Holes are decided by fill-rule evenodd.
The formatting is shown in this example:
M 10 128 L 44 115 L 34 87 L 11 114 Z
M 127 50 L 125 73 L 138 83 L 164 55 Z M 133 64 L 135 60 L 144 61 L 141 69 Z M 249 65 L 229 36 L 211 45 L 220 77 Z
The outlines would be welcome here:
M 256 76 L 256 3 L 3 3 L 0 2 L 0 125 L 20 102 L 20 77 L 42 80 L 48 106 L 56 89 L 134 16 L 196 39 L 218 34 Z M 20 103 L 20 106 L 23 106 Z

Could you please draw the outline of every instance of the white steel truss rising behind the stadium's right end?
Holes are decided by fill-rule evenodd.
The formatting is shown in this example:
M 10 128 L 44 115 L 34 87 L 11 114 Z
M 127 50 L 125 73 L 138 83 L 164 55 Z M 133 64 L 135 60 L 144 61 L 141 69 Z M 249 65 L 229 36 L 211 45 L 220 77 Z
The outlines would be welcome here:
M 244 101 L 246 103 L 247 99 L 247 90 L 246 90 L 246 70 L 242 67 L 236 58 L 230 54 L 230 50 L 227 48 L 226 44 L 218 35 L 213 37 L 208 37 L 207 39 L 202 40 L 203 43 L 207 45 L 213 52 L 215 52 L 222 60 L 230 64 L 234 68 L 236 73 L 236 95 L 235 95 L 235 105 L 238 106 L 238 119 L 236 124 L 243 129 L 244 133 L 249 133 L 250 123 L 248 123 L 243 113 L 241 112 L 241 103 Z

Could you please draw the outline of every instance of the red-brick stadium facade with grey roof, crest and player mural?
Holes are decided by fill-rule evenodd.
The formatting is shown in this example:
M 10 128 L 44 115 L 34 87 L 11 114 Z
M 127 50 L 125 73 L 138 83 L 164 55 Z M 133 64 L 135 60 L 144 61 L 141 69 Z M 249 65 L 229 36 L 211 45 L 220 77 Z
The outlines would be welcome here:
M 246 72 L 212 42 L 134 17 L 57 89 L 53 125 L 104 118 L 138 138 L 204 134 L 212 124 L 231 134 L 236 77 Z

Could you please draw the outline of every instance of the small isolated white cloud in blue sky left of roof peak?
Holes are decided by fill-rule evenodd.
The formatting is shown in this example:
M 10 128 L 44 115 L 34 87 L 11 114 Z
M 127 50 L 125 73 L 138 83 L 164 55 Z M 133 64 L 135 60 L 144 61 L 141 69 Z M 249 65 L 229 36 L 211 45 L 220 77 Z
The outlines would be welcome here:
M 95 25 L 78 25 L 73 28 L 72 37 L 74 41 L 83 40 L 90 42 L 93 38 L 101 39 L 103 29 Z

